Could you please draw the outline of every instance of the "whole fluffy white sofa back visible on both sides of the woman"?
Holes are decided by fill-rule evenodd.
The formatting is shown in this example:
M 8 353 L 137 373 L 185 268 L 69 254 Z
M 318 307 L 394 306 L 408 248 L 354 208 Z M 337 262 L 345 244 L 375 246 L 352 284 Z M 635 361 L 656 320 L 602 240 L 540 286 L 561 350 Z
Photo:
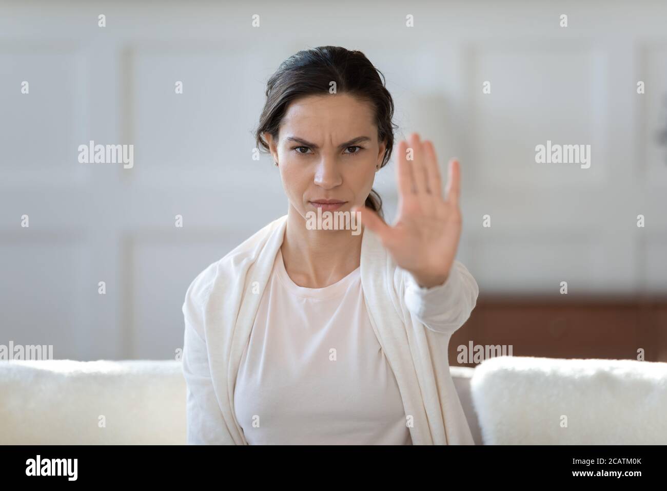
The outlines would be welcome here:
M 667 363 L 451 367 L 478 444 L 667 444 Z M 0 444 L 184 444 L 180 361 L 0 361 Z

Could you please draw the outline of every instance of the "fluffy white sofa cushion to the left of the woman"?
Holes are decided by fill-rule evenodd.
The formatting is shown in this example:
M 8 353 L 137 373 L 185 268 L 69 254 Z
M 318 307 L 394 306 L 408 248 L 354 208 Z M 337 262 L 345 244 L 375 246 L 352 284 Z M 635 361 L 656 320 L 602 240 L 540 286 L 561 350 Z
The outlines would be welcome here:
M 0 444 L 184 443 L 180 361 L 0 362 Z

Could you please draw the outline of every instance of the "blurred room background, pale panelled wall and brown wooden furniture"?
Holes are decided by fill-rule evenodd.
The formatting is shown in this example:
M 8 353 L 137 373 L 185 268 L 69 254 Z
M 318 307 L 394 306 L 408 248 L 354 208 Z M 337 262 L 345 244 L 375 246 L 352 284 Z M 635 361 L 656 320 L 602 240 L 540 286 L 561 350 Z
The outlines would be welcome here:
M 451 365 L 471 343 L 667 361 L 666 25 L 663 1 L 0 3 L 0 345 L 177 357 L 189 283 L 287 212 L 252 158 L 268 77 L 341 45 L 384 73 L 397 140 L 460 159 L 480 297 Z M 90 140 L 133 144 L 133 168 L 79 163 Z M 590 168 L 537 164 L 547 140 L 590 144 Z

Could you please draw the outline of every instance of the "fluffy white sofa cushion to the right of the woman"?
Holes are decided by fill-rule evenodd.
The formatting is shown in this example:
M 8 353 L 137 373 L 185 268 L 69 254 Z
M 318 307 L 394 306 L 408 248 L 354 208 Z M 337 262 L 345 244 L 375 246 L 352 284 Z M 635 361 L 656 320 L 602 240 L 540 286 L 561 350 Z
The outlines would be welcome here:
M 471 381 L 484 444 L 667 444 L 667 363 L 501 356 Z

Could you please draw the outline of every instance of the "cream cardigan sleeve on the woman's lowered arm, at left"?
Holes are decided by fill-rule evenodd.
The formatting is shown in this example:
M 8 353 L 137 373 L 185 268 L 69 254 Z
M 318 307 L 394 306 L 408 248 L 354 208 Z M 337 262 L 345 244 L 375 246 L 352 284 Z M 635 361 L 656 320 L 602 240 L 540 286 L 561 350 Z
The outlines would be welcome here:
M 186 442 L 195 445 L 233 445 L 211 381 L 203 330 L 204 307 L 212 283 L 210 271 L 197 276 L 185 293 L 183 317 L 183 377 L 185 377 Z

